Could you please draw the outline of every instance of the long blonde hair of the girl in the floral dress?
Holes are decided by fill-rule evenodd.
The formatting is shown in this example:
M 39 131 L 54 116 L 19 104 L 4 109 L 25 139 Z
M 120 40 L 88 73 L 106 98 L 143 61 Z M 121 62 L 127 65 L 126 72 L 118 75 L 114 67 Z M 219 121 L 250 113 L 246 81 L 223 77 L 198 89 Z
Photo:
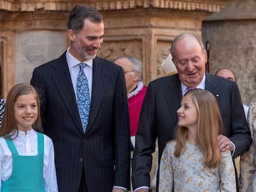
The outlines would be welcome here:
M 215 96 L 207 90 L 190 90 L 184 96 L 190 96 L 198 112 L 198 144 L 202 148 L 203 163 L 209 168 L 217 167 L 221 162 L 221 152 L 217 137 L 223 134 L 223 122 Z M 180 157 L 186 148 L 187 127 L 177 126 L 176 148 L 174 156 Z

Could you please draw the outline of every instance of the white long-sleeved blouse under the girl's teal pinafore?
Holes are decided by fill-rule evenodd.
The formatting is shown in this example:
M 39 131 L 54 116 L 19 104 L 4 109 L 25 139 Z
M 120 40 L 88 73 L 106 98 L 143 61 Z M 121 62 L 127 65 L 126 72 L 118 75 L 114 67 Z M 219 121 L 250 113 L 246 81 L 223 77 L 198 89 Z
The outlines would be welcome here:
M 44 140 L 43 178 L 45 180 L 45 191 L 56 192 L 58 191 L 58 184 L 54 164 L 53 141 L 46 135 L 44 135 Z M 19 131 L 18 136 L 12 141 L 20 156 L 36 156 L 38 154 L 37 133 L 35 130 L 27 131 L 27 134 L 23 131 Z M 0 137 L 0 162 L 1 191 L 2 181 L 7 180 L 12 173 L 12 152 L 2 137 Z

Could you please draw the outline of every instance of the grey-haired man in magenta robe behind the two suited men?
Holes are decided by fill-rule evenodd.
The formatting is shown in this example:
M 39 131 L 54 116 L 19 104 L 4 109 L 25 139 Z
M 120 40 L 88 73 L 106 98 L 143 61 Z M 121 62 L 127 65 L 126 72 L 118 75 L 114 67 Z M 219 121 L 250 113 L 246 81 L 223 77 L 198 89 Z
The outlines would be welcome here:
M 132 142 L 132 151 L 134 151 L 140 109 L 142 108 L 142 102 L 147 91 L 147 86 L 142 81 L 142 62 L 134 57 L 124 55 L 117 57 L 114 63 L 124 69 L 130 117 L 130 140 Z

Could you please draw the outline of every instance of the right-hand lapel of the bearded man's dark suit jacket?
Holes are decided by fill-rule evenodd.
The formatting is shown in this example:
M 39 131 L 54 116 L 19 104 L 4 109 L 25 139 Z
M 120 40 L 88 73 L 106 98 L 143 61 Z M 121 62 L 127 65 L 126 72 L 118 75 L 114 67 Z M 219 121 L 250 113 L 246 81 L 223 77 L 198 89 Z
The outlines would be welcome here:
M 106 65 L 104 60 L 98 57 L 93 59 L 93 84 L 92 84 L 92 100 L 90 105 L 90 117 L 86 132 L 92 127 L 96 114 L 101 104 L 101 99 L 105 94 L 106 82 Z

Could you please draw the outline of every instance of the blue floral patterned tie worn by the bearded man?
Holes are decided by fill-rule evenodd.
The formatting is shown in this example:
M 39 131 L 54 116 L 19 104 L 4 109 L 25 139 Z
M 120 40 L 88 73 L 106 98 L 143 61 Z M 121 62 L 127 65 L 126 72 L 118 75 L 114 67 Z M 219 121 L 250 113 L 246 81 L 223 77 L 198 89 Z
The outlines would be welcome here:
M 83 126 L 83 133 L 85 133 L 90 112 L 89 85 L 87 77 L 83 72 L 85 65 L 86 64 L 83 63 L 79 64 L 80 70 L 79 75 L 77 76 L 77 108 L 79 110 L 79 115 Z

